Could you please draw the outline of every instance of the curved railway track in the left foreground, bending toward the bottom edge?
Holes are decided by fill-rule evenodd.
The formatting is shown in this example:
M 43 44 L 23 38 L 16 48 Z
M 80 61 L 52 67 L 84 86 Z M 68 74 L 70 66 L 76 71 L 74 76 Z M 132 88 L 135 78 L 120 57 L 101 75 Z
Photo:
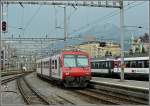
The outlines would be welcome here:
M 25 78 L 18 78 L 17 79 L 17 86 L 18 89 L 23 96 L 24 101 L 26 104 L 45 104 L 50 105 L 47 98 L 42 95 L 39 91 L 33 88 Z

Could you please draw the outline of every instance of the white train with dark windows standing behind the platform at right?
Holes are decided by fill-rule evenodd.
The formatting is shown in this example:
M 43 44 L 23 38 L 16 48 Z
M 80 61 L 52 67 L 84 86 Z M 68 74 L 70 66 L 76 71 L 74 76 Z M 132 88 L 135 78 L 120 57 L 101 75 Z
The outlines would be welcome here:
M 125 77 L 149 78 L 149 57 L 125 57 Z M 92 75 L 120 76 L 121 59 L 93 59 L 91 62 Z

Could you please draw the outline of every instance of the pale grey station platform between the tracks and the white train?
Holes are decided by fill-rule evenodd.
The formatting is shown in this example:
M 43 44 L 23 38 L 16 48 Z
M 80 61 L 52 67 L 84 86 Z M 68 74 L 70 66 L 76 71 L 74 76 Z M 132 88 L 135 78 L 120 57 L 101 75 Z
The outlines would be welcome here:
M 149 81 L 136 81 L 136 80 L 120 81 L 120 79 L 92 77 L 91 82 L 149 90 Z

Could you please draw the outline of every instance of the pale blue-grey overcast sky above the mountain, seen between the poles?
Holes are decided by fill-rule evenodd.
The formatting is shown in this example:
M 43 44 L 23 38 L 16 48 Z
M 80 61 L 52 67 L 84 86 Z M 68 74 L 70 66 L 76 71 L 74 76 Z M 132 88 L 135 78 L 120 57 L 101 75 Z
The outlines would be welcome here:
M 127 5 L 127 2 L 125 5 Z M 6 6 L 4 6 L 4 11 L 6 12 L 6 14 L 4 13 L 4 20 L 8 21 L 9 26 L 7 37 L 12 34 L 15 37 L 19 35 L 21 37 L 45 37 L 46 35 L 48 37 L 63 37 L 64 35 L 63 29 L 55 28 L 56 26 L 63 27 L 64 14 L 61 7 L 53 5 L 24 5 L 24 8 L 22 8 L 18 4 L 8 5 L 8 13 Z M 111 17 L 110 13 L 112 12 L 117 13 L 119 9 L 101 7 L 76 7 L 75 9 L 67 7 L 67 17 L 70 16 L 68 19 L 68 33 L 70 36 L 78 34 L 79 32 L 73 33 L 74 30 L 80 29 L 80 27 L 88 23 L 92 23 L 90 27 L 96 24 L 105 25 L 107 23 L 119 27 L 119 14 Z M 134 2 L 125 6 L 125 25 L 142 26 L 142 29 L 133 28 L 133 30 L 146 32 L 148 30 L 148 13 L 148 2 Z M 106 15 L 107 17 L 104 17 Z M 25 29 L 24 35 L 19 28 Z

